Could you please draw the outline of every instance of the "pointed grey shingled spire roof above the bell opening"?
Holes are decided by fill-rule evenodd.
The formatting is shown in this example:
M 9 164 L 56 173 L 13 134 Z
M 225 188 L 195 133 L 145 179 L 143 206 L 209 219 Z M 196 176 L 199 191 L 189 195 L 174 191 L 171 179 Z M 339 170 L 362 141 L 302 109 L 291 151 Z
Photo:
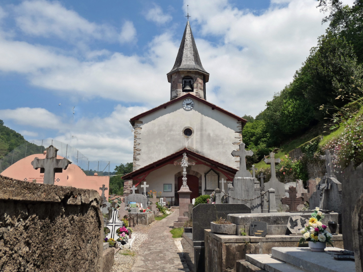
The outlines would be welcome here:
M 169 82 L 171 82 L 171 75 L 177 71 L 198 71 L 206 76 L 205 82 L 208 82 L 209 73 L 204 70 L 200 61 L 189 21 L 186 22 L 174 67 L 172 71 L 167 74 Z

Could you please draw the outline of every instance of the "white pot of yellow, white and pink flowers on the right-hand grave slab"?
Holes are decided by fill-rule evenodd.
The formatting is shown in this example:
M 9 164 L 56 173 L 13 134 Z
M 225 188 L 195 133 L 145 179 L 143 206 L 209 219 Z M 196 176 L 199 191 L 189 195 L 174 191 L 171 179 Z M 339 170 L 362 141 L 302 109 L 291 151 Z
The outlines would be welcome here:
M 307 241 L 310 250 L 314 252 L 324 252 L 327 243 L 333 246 L 331 240 L 333 235 L 326 230 L 327 226 L 321 223 L 323 218 L 324 214 L 316 207 L 311 214 L 309 223 L 305 228 L 301 229 L 303 237 L 300 239 L 299 244 Z

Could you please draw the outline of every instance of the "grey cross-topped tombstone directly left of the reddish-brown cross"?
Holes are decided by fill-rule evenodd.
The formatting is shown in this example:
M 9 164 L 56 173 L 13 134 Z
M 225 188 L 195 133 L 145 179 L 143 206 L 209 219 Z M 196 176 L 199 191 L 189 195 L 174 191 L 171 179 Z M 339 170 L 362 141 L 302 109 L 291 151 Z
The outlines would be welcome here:
M 278 181 L 276 178 L 275 164 L 280 163 L 280 159 L 275 159 L 275 154 L 273 152 L 270 153 L 270 159 L 265 158 L 265 163 L 271 165 L 271 179 L 269 182 L 264 183 L 264 191 L 268 191 L 270 188 L 275 190 L 275 201 L 276 207 L 279 210 L 283 210 L 283 206 L 281 203 L 281 198 L 285 196 L 285 185 Z M 262 212 L 268 212 L 268 204 L 264 203 L 264 208 Z

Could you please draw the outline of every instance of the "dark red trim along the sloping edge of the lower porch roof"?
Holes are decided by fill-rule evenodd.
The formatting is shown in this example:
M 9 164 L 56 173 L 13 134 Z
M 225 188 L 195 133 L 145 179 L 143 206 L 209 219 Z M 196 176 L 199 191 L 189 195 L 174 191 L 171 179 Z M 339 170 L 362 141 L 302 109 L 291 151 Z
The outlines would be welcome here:
M 143 173 L 145 173 L 145 172 L 147 172 L 147 171 L 149 171 L 151 169 L 154 169 L 154 168 L 156 168 L 158 166 L 163 165 L 167 161 L 176 160 L 176 158 L 177 157 L 180 157 L 180 155 L 182 153 L 184 153 L 184 152 L 186 154 L 189 154 L 191 156 L 194 156 L 194 157 L 196 157 L 198 159 L 201 159 L 203 161 L 206 161 L 206 162 L 210 163 L 211 165 L 217 166 L 217 167 L 219 167 L 223 171 L 228 171 L 229 173 L 233 174 L 233 176 L 238 171 L 237 169 L 234 169 L 232 167 L 223 165 L 223 164 L 218 163 L 216 161 L 213 161 L 213 160 L 211 160 L 211 159 L 209 159 L 207 157 L 204 157 L 204 156 L 202 156 L 202 155 L 200 155 L 198 153 L 195 153 L 194 151 L 191 151 L 191 150 L 188 150 L 188 149 L 184 148 L 184 149 L 181 149 L 180 151 L 178 151 L 178 152 L 176 152 L 174 154 L 171 154 L 171 155 L 169 155 L 169 156 L 167 156 L 167 157 L 165 157 L 165 158 L 163 158 L 163 159 L 161 159 L 159 161 L 156 161 L 155 163 L 149 164 L 149 165 L 144 166 L 144 167 L 142 167 L 142 168 L 140 168 L 138 170 L 135 170 L 135 171 L 133 171 L 133 172 L 131 172 L 129 174 L 126 174 L 125 176 L 122 176 L 122 179 L 123 180 L 132 180 L 132 178 L 137 178 L 138 176 L 141 176 Z M 193 160 L 193 158 L 190 158 L 190 157 L 189 157 L 189 159 Z

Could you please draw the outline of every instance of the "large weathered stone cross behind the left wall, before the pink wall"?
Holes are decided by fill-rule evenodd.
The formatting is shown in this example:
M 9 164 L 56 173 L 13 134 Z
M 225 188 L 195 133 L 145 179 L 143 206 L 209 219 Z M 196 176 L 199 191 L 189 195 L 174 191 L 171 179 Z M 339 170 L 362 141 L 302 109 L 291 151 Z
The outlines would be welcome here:
M 31 165 L 35 170 L 40 168 L 40 173 L 44 173 L 44 184 L 54 184 L 55 173 L 62 173 L 71 164 L 66 158 L 57 159 L 57 152 L 54 146 L 47 147 L 45 159 L 34 158 Z

